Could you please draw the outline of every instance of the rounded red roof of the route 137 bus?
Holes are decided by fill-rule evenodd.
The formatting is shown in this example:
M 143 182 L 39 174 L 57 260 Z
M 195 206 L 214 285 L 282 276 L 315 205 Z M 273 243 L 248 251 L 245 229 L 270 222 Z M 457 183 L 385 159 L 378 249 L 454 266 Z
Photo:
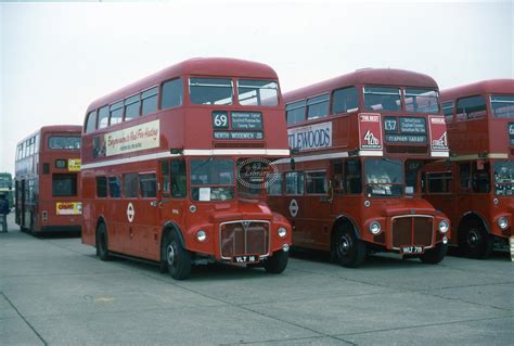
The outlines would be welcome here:
M 284 93 L 284 100 L 287 103 L 334 89 L 356 85 L 437 88 L 437 82 L 434 78 L 424 74 L 396 68 L 362 68 L 343 76 L 286 92 Z

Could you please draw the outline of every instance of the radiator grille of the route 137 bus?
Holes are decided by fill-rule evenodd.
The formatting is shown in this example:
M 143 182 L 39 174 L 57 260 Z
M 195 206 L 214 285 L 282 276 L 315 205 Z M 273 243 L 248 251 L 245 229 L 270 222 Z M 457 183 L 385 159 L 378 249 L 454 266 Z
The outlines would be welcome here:
M 393 247 L 432 245 L 432 217 L 409 216 L 393 218 Z

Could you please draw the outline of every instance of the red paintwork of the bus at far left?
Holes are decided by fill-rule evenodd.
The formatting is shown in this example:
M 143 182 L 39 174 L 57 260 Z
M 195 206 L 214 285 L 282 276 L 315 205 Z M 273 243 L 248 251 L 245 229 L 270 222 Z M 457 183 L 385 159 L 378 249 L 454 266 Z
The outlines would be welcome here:
M 54 230 L 80 230 L 82 223 L 81 215 L 56 215 L 56 203 L 80 203 L 80 172 L 70 172 L 68 168 L 55 168 L 56 159 L 79 159 L 79 150 L 50 150 L 48 148 L 48 138 L 50 136 L 77 136 L 81 132 L 81 126 L 78 125 L 55 125 L 44 126 L 38 131 L 26 137 L 20 143 L 27 139 L 39 137 L 38 152 L 34 155 L 16 161 L 15 180 L 16 180 L 16 223 L 24 229 L 33 232 L 54 231 Z M 18 144 L 20 144 L 18 143 Z M 17 145 L 16 145 L 17 148 Z M 49 164 L 49 174 L 42 172 L 43 164 Z M 26 167 L 22 171 L 22 167 Z M 76 196 L 52 196 L 52 174 L 77 174 L 77 195 Z M 28 181 L 35 184 L 35 201 L 27 201 L 25 207 L 22 206 L 22 187 L 28 185 Z M 27 189 L 25 189 L 27 191 Z M 42 213 L 48 212 L 48 219 L 43 220 Z

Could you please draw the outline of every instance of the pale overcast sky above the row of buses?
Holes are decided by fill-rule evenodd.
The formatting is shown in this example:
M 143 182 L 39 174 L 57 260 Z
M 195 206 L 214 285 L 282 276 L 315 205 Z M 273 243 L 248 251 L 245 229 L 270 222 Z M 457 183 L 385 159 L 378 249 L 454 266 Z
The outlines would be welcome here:
M 283 91 L 362 67 L 444 89 L 514 78 L 513 21 L 512 1 L 2 3 L 0 171 L 37 128 L 82 124 L 92 100 L 185 59 L 264 62 Z

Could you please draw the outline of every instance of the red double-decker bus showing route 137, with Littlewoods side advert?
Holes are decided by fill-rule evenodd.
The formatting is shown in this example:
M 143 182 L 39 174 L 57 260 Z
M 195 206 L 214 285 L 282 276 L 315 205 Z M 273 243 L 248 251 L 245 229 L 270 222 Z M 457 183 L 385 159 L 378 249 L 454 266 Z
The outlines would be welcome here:
M 439 262 L 447 217 L 421 198 L 416 176 L 448 156 L 437 84 L 399 69 L 360 69 L 284 94 L 293 159 L 268 188 L 293 244 L 357 267 L 368 253 Z

